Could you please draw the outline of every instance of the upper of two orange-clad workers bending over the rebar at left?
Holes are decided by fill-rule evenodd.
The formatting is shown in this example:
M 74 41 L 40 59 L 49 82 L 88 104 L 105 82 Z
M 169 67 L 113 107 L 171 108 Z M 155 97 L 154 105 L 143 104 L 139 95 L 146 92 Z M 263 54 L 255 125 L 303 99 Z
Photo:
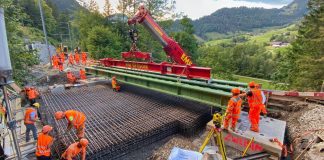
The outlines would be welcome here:
M 85 121 L 87 119 L 84 113 L 76 110 L 67 110 L 65 112 L 58 111 L 55 113 L 56 120 L 63 118 L 68 121 L 68 131 L 71 130 L 72 127 L 74 127 L 77 130 L 78 138 L 81 139 L 84 137 Z

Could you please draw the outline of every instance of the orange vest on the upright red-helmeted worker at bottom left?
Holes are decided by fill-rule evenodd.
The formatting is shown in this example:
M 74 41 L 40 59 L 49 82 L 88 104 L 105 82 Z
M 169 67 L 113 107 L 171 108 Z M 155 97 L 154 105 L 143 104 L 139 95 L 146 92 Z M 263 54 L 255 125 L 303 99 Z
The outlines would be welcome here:
M 36 156 L 51 156 L 50 144 L 53 142 L 53 137 L 48 134 L 40 133 L 37 138 Z

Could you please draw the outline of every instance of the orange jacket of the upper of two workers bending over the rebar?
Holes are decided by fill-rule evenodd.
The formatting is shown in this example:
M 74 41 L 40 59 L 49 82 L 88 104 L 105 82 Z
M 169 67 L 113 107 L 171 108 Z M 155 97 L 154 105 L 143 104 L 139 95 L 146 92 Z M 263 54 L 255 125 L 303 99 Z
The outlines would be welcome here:
M 84 113 L 75 110 L 65 111 L 65 118 L 69 123 L 72 123 L 76 129 L 81 127 L 87 119 Z

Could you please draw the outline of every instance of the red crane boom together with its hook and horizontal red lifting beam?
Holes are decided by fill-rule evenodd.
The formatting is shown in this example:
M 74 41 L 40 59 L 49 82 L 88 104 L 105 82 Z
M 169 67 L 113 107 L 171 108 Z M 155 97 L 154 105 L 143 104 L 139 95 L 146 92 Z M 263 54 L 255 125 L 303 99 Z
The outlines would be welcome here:
M 135 68 L 151 72 L 160 72 L 161 74 L 175 74 L 191 78 L 210 79 L 211 68 L 197 67 L 193 64 L 190 57 L 184 52 L 181 46 L 170 38 L 164 30 L 153 20 L 149 11 L 141 5 L 135 16 L 128 20 L 128 24 L 142 24 L 163 46 L 164 51 L 175 63 L 154 63 L 151 61 L 151 54 L 141 52 L 136 48 L 136 39 L 133 37 L 133 44 L 129 52 L 123 52 L 123 60 L 112 58 L 101 59 L 100 62 L 106 67 Z M 132 32 L 130 32 L 133 34 Z M 137 32 L 134 32 L 137 34 Z M 138 58 L 147 62 L 126 61 L 128 58 Z

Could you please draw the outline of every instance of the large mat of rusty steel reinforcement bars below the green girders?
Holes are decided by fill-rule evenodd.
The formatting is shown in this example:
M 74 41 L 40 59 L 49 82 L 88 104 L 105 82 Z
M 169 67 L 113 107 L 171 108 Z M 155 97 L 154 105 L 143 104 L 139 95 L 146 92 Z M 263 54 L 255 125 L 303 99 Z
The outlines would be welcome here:
M 65 120 L 53 119 L 59 110 L 86 114 L 87 159 L 114 159 L 175 133 L 191 136 L 210 120 L 207 106 L 132 86 L 119 93 L 104 86 L 75 88 L 42 99 L 56 131 L 56 157 L 77 139 L 74 130 L 66 132 Z

